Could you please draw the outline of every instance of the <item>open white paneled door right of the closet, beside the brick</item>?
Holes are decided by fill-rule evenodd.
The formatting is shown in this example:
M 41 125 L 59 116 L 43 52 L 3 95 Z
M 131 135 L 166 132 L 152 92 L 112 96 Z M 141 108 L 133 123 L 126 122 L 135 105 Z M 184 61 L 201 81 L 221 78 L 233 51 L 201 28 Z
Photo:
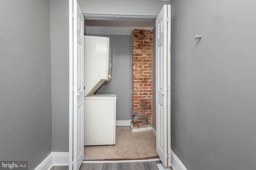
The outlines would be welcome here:
M 170 166 L 170 5 L 156 18 L 156 152 Z

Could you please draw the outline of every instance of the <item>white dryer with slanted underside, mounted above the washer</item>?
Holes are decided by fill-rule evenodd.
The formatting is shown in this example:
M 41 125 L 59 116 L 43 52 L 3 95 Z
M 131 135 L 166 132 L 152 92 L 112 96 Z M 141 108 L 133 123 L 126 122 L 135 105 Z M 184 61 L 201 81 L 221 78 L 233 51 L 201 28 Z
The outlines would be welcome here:
M 84 36 L 84 95 L 94 94 L 105 81 L 111 80 L 109 37 Z

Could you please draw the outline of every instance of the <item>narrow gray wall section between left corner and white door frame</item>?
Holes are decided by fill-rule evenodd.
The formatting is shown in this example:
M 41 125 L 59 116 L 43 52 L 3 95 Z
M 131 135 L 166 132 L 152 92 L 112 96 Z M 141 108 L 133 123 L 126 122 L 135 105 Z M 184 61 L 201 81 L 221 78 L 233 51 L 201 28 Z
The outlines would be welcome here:
M 68 152 L 68 0 L 50 0 L 52 151 Z

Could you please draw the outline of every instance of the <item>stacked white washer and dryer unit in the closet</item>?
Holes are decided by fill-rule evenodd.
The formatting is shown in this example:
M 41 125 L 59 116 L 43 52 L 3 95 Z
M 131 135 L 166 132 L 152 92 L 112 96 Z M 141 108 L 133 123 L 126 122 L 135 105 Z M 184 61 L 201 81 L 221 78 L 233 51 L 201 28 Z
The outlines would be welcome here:
M 84 36 L 84 145 L 116 143 L 116 95 L 95 94 L 111 80 L 109 37 Z

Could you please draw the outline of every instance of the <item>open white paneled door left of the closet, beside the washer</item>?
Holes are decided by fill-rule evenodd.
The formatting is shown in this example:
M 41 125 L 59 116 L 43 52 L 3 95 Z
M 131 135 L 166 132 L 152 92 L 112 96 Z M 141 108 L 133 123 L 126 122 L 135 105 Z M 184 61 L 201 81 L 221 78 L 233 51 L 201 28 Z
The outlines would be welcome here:
M 70 169 L 79 170 L 84 159 L 84 17 L 76 0 L 73 13 L 73 134 L 70 134 L 73 167 L 70 165 Z

